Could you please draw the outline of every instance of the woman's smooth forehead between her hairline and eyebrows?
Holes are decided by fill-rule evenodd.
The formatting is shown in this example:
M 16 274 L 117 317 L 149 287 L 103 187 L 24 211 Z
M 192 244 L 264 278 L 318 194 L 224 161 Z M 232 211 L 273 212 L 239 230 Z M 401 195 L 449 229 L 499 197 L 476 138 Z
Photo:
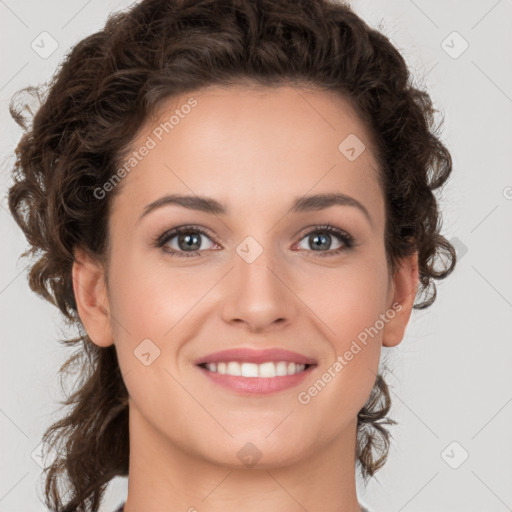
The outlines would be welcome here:
M 138 214 L 166 193 L 215 197 L 233 205 L 233 213 L 244 206 L 282 209 L 308 191 L 366 196 L 376 208 L 381 202 L 371 135 L 333 92 L 201 89 L 164 101 L 131 150 L 144 146 L 150 149 L 115 200 Z

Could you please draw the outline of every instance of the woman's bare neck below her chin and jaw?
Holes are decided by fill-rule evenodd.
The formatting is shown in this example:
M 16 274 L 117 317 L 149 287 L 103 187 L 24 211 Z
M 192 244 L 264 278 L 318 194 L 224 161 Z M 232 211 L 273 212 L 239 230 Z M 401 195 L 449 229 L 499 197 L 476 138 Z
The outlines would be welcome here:
M 147 423 L 133 403 L 129 417 L 125 512 L 360 510 L 355 483 L 356 420 L 330 444 L 298 450 L 293 463 L 265 466 L 262 457 L 248 468 L 184 450 Z M 234 446 L 235 452 L 239 449 Z

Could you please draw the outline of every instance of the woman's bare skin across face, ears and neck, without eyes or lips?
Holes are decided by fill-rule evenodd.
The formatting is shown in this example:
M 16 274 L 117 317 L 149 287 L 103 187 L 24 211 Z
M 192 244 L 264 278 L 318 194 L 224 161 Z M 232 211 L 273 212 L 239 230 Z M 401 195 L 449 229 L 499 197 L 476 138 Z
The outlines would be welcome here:
M 125 510 L 356 512 L 357 413 L 381 347 L 403 339 L 418 284 L 416 253 L 394 275 L 386 264 L 370 135 L 332 93 L 210 87 L 163 104 L 133 148 L 190 96 L 197 106 L 118 185 L 108 278 L 84 251 L 73 265 L 80 318 L 95 344 L 115 344 L 130 395 Z M 366 146 L 354 161 L 338 150 L 349 134 Z M 359 201 L 370 220 L 346 205 L 289 211 L 297 197 L 332 192 Z M 167 205 L 138 221 L 146 205 L 170 193 L 214 198 L 229 213 Z M 323 253 L 308 243 L 308 229 L 326 223 L 358 245 L 322 256 L 343 245 L 335 235 Z M 187 224 L 212 234 L 201 237 L 201 256 L 172 257 L 151 245 Z M 263 249 L 252 263 L 236 252 L 247 236 Z M 181 252 L 184 245 L 178 237 L 167 242 Z M 299 403 L 298 393 L 393 303 L 401 305 L 394 318 L 309 403 Z M 147 338 L 160 350 L 149 366 L 134 356 Z M 241 396 L 193 364 L 235 347 L 281 347 L 318 366 L 296 388 Z M 253 467 L 237 456 L 248 442 L 261 453 Z

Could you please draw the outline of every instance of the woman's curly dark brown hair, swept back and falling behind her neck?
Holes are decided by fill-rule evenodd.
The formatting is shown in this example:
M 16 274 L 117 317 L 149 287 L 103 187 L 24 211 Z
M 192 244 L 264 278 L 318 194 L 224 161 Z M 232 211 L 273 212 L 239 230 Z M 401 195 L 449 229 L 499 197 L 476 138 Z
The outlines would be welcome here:
M 49 84 L 13 96 L 24 128 L 16 147 L 9 208 L 35 258 L 30 288 L 57 306 L 79 336 L 61 367 L 80 384 L 69 414 L 45 432 L 58 454 L 46 468 L 46 505 L 96 512 L 109 481 L 128 475 L 128 393 L 114 346 L 91 342 L 77 313 L 72 265 L 77 247 L 108 269 L 107 221 L 115 188 L 94 190 L 118 169 L 144 122 L 166 99 L 209 85 L 283 84 L 336 91 L 376 141 L 385 196 L 385 247 L 393 272 L 418 252 L 414 308 L 436 298 L 434 279 L 454 269 L 454 247 L 440 234 L 434 190 L 452 162 L 440 141 L 430 96 L 413 86 L 406 63 L 382 33 L 334 0 L 143 0 L 109 16 L 80 41 Z M 22 110 L 33 94 L 40 106 Z M 436 268 L 437 261 L 442 262 Z M 421 300 L 423 299 L 423 300 Z M 379 374 L 358 413 L 356 461 L 365 481 L 386 461 L 391 400 Z M 67 477 L 67 482 L 61 482 Z M 59 483 L 65 485 L 59 489 Z

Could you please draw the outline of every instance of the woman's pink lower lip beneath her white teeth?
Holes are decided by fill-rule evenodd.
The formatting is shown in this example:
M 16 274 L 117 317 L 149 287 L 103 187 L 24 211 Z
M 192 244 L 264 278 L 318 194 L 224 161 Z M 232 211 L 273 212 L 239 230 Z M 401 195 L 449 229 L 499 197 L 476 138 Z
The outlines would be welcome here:
M 211 372 L 202 366 L 199 368 L 210 380 L 238 394 L 266 395 L 298 386 L 316 365 L 308 366 L 303 372 L 279 377 L 238 377 L 217 372 Z

